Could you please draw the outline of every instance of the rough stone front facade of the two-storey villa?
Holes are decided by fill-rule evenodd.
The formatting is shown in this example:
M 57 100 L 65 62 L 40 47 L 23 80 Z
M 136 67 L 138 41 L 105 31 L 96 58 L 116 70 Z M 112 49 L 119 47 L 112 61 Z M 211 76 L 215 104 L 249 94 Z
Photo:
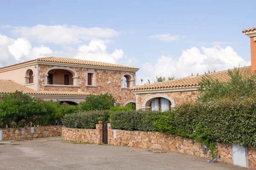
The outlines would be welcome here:
M 114 70 L 100 70 L 91 68 L 77 68 L 69 67 L 76 71 L 79 79 L 79 87 L 61 87 L 61 86 L 44 86 L 45 73 L 48 68 L 54 67 L 53 65 L 39 65 L 39 90 L 41 91 L 84 91 L 92 94 L 111 93 L 122 105 L 128 100 L 135 101 L 135 95 L 130 89 L 121 88 L 122 75 L 129 73 L 135 79 L 135 72 L 130 71 L 114 71 Z M 86 86 L 86 71 L 94 71 L 96 73 L 96 86 Z M 75 84 L 74 84 L 75 85 Z

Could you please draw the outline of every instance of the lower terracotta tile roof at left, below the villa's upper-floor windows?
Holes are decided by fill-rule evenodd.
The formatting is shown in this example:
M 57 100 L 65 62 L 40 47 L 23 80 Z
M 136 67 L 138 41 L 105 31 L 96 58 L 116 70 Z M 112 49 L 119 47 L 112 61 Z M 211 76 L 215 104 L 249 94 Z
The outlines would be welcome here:
M 75 95 L 84 96 L 89 93 L 86 92 L 76 92 L 76 91 L 35 91 L 24 85 L 20 85 L 12 80 L 0 79 L 0 94 L 14 93 L 15 91 L 22 91 L 26 94 L 44 94 L 44 95 Z

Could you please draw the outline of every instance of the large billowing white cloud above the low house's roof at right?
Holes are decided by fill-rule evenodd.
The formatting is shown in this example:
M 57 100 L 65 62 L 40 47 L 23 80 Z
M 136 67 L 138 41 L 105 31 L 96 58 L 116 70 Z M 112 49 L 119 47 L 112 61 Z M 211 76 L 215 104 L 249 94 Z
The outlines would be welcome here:
M 234 67 L 243 67 L 250 65 L 250 62 L 242 59 L 236 51 L 230 46 L 221 48 L 214 46 L 212 48 L 196 47 L 183 51 L 178 59 L 170 56 L 162 56 L 157 59 L 155 65 L 151 63 L 143 64 L 143 71 L 150 75 L 151 82 L 156 81 L 156 76 L 168 77 L 174 76 L 176 79 L 181 77 L 204 74 L 209 71 L 221 71 Z

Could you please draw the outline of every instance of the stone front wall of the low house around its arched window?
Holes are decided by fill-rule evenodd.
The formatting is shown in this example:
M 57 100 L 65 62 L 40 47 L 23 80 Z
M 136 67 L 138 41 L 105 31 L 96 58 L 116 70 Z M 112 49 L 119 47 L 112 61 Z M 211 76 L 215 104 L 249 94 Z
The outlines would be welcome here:
M 166 98 L 172 102 L 172 105 L 179 105 L 186 101 L 195 101 L 197 91 L 178 91 L 178 92 L 164 92 L 164 93 L 148 93 L 136 94 L 136 109 L 144 109 L 149 106 L 153 99 L 158 97 Z M 146 102 L 147 101 L 147 102 Z

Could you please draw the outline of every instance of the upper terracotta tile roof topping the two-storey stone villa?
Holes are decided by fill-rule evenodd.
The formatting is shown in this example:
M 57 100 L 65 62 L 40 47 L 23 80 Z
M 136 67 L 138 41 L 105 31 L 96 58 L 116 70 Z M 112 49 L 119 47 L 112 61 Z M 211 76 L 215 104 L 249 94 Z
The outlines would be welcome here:
M 112 64 L 112 63 L 107 63 L 107 62 L 87 61 L 87 60 L 82 60 L 82 59 L 70 59 L 70 58 L 61 58 L 61 57 L 45 57 L 45 58 L 33 59 L 30 61 L 21 62 L 21 63 L 17 63 L 14 65 L 2 67 L 2 68 L 0 68 L 0 70 L 4 69 L 4 68 L 9 68 L 9 67 L 17 66 L 17 65 L 26 64 L 29 62 L 35 62 L 35 61 L 58 62 L 58 63 L 68 63 L 68 64 L 79 64 L 79 65 L 93 65 L 93 66 L 102 66 L 102 67 L 110 67 L 110 68 L 128 68 L 128 69 L 139 70 L 139 68 L 137 68 L 137 67 L 131 67 L 128 65 L 119 65 L 119 64 Z

